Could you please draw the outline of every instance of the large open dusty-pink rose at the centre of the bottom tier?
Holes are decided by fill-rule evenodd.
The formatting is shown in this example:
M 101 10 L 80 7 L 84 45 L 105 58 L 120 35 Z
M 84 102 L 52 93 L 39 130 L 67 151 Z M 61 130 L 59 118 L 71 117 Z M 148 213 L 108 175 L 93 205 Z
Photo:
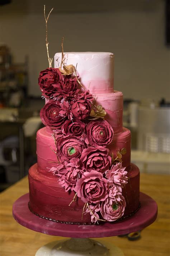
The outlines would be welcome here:
M 84 172 L 82 178 L 77 180 L 75 191 L 84 203 L 105 201 L 108 197 L 108 182 L 100 172 L 91 170 Z

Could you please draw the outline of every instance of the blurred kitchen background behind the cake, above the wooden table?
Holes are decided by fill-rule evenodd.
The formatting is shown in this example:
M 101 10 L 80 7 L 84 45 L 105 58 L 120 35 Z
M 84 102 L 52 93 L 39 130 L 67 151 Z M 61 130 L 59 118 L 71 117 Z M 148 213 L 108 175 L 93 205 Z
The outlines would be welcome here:
M 39 72 L 61 51 L 115 54 L 114 88 L 124 94 L 124 126 L 141 172 L 170 171 L 170 1 L 0 0 L 0 191 L 36 162 L 43 127 Z

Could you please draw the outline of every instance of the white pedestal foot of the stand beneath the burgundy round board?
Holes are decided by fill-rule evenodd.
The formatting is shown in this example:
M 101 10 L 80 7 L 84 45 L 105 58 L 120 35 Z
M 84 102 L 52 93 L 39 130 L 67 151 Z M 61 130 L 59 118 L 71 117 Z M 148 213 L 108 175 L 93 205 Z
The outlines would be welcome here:
M 71 238 L 54 241 L 39 248 L 35 256 L 124 256 L 121 249 L 109 244 L 108 248 L 89 238 Z

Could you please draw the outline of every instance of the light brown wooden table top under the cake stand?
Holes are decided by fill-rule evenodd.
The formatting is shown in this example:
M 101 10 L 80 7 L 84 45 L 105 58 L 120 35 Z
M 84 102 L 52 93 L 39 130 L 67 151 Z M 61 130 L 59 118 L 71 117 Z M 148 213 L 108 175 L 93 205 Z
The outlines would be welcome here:
M 129 241 L 126 237 L 97 240 L 115 244 L 125 256 L 169 256 L 170 176 L 142 173 L 140 184 L 141 192 L 151 196 L 158 204 L 155 223 L 142 230 L 141 239 L 137 241 Z M 0 256 L 34 256 L 44 244 L 63 239 L 27 229 L 13 219 L 13 203 L 28 192 L 28 179 L 25 177 L 0 194 Z

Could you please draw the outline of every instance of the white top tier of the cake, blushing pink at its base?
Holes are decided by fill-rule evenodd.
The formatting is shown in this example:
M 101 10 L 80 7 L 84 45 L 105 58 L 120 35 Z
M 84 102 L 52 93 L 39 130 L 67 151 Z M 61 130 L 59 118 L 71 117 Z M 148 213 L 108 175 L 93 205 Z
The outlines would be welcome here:
M 54 57 L 54 67 L 61 63 L 61 53 Z M 77 76 L 91 93 L 102 94 L 113 92 L 114 54 L 104 52 L 70 52 L 64 53 L 66 66 L 77 65 Z M 90 85 L 90 87 L 89 87 Z

